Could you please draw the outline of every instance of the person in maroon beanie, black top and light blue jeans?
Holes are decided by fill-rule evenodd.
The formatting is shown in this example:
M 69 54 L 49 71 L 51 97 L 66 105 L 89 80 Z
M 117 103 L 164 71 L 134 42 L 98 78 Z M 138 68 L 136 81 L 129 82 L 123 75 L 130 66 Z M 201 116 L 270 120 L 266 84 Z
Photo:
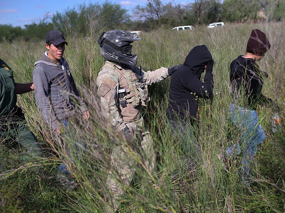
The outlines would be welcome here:
M 262 59 L 270 46 L 266 35 L 254 29 L 247 42 L 246 54 L 238 56 L 230 66 L 233 103 L 230 105 L 229 117 L 240 130 L 241 138 L 218 157 L 229 172 L 233 158 L 243 152 L 240 174 L 246 186 L 250 183 L 250 167 L 257 153 L 257 145 L 265 139 L 257 117 L 257 105 L 277 108 L 275 101 L 262 94 L 263 79 L 268 75 L 262 72 L 256 63 Z

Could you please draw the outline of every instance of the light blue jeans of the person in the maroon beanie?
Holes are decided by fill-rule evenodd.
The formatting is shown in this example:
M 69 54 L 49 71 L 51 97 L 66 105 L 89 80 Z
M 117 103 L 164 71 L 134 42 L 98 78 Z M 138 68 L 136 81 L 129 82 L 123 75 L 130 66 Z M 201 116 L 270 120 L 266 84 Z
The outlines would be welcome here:
M 250 176 L 250 165 L 254 161 L 257 145 L 264 141 L 265 133 L 255 110 L 231 104 L 228 113 L 234 125 L 241 130 L 241 140 L 227 148 L 226 154 L 232 159 L 243 152 L 241 177 L 246 181 Z

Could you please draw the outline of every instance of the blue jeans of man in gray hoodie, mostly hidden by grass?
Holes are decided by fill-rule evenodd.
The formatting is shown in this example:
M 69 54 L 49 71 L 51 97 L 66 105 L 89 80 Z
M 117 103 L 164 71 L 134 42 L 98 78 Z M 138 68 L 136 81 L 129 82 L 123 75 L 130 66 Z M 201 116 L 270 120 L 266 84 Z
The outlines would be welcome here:
M 65 130 L 65 135 L 68 137 L 68 138 L 75 138 L 75 131 L 73 129 L 73 127 L 71 125 L 69 125 L 69 119 L 66 118 L 66 119 L 63 119 L 61 120 L 63 126 L 64 126 L 64 130 Z M 79 142 L 80 143 L 80 142 Z M 84 149 L 85 148 L 85 145 L 84 145 L 84 142 L 83 140 L 81 141 L 81 145 L 82 145 L 82 148 Z M 79 150 L 79 147 L 78 145 L 75 145 L 75 148 L 76 150 Z M 68 149 L 68 148 L 67 148 Z M 67 151 L 67 154 L 68 156 L 70 155 L 70 151 L 68 149 Z M 62 163 L 59 165 L 59 171 L 63 174 L 69 174 L 69 171 L 67 169 L 67 163 Z

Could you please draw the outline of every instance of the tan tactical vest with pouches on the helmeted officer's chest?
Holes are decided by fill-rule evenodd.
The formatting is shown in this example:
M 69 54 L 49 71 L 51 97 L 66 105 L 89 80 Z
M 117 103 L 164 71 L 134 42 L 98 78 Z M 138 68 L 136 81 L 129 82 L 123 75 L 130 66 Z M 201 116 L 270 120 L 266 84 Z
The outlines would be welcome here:
M 129 89 L 119 88 L 120 105 L 123 108 L 127 106 L 126 103 L 132 104 L 134 107 L 146 106 L 147 102 L 150 101 L 150 97 L 147 84 L 143 82 L 143 76 L 136 75 L 132 70 L 124 70 L 123 73 L 129 84 Z

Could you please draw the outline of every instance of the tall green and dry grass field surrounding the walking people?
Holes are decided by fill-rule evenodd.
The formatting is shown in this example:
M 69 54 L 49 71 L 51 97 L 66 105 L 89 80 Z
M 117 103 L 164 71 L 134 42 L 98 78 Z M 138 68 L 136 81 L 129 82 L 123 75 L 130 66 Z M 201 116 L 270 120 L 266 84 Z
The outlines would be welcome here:
M 258 107 L 259 121 L 266 139 L 259 145 L 250 188 L 244 187 L 239 176 L 241 157 L 229 173 L 216 157 L 225 148 L 239 141 L 240 133 L 228 120 L 227 109 L 232 102 L 229 87 L 229 65 L 245 53 L 252 29 L 266 33 L 271 49 L 259 62 L 268 78 L 263 94 L 277 100 L 285 109 L 285 37 L 284 22 L 254 24 L 225 24 L 221 28 L 196 27 L 192 31 L 156 30 L 142 33 L 142 41 L 133 46 L 139 56 L 138 66 L 155 70 L 184 62 L 196 45 L 205 44 L 215 65 L 214 98 L 200 103 L 197 126 L 193 127 L 196 142 L 195 167 L 185 166 L 183 147 L 173 138 L 165 125 L 170 78 L 150 86 L 151 102 L 144 111 L 145 125 L 153 134 L 157 150 L 155 176 L 142 171 L 140 158 L 132 186 L 125 186 L 121 212 L 285 212 L 285 131 L 272 133 L 271 109 Z M 64 57 L 84 100 L 89 105 L 91 118 L 78 117 L 72 122 L 75 138 L 63 136 L 64 142 L 84 140 L 85 150 L 67 150 L 40 115 L 34 93 L 18 95 L 28 127 L 38 138 L 43 156 L 27 159 L 21 150 L 0 142 L 0 212 L 105 212 L 108 209 L 108 190 L 105 187 L 109 172 L 112 144 L 109 140 L 96 95 L 96 76 L 104 64 L 97 38 L 104 31 L 100 22 L 89 23 L 90 32 L 82 38 L 74 33 L 65 36 L 68 46 Z M 45 51 L 44 40 L 38 43 L 14 41 L 0 44 L 1 59 L 13 70 L 16 82 L 32 81 L 33 64 Z M 112 136 L 122 140 L 115 131 Z M 199 151 L 198 151 L 199 150 Z M 126 156 L 127 157 L 127 156 Z M 130 153 L 130 157 L 135 157 Z M 67 190 L 56 179 L 58 165 L 68 159 L 70 171 L 79 183 L 75 190 Z M 174 180 L 173 175 L 178 179 Z M 157 187 L 148 181 L 151 179 Z

